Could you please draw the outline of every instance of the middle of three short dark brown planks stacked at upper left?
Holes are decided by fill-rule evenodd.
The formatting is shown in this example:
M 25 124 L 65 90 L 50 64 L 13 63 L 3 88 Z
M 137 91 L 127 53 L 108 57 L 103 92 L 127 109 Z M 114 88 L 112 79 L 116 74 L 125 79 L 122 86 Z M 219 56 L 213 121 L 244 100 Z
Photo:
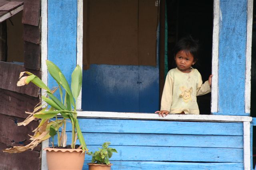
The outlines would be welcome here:
M 33 25 L 24 24 L 24 29 L 23 29 L 23 40 L 24 41 L 28 41 L 28 42 L 34 43 L 34 44 L 39 44 L 40 37 L 41 37 L 41 25 L 40 24 L 38 27 L 33 26 Z

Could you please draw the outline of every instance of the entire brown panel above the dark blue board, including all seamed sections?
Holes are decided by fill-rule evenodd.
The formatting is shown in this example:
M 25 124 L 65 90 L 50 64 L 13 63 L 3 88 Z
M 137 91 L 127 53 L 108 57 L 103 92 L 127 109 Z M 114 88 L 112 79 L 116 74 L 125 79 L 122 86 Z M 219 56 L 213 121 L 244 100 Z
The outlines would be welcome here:
M 88 0 L 84 3 L 84 66 L 156 66 L 157 23 L 155 0 Z

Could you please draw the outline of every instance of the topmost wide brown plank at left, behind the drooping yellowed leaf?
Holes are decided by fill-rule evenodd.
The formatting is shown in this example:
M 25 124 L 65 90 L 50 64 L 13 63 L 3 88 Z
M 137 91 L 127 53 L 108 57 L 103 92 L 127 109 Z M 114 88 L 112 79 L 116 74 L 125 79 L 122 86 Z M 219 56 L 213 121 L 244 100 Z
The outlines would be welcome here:
M 16 83 L 19 80 L 20 72 L 29 71 L 33 74 L 41 77 L 40 70 L 29 70 L 24 69 L 22 65 L 17 65 L 14 63 L 0 62 L 0 88 L 5 90 L 10 90 L 13 92 L 18 92 L 22 94 L 27 94 L 29 96 L 38 97 L 39 88 L 34 84 L 30 83 L 26 86 L 17 87 Z

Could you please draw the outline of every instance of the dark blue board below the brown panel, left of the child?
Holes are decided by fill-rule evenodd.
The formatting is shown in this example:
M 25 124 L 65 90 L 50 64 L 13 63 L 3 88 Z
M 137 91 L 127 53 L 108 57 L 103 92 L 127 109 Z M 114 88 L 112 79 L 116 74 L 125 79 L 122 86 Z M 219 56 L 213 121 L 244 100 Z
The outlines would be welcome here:
M 83 70 L 82 109 L 148 112 L 159 107 L 159 71 L 153 66 L 90 64 Z

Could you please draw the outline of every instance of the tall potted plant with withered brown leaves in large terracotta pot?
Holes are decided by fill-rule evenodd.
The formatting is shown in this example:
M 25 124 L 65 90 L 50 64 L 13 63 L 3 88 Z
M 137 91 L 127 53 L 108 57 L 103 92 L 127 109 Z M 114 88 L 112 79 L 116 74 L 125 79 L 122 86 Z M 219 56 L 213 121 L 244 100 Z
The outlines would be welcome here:
M 54 147 L 54 143 L 52 143 L 52 148 L 45 149 L 47 157 L 51 156 L 51 158 L 47 158 L 49 170 L 52 166 L 52 164 L 49 162 L 50 160 L 54 161 L 54 165 L 62 165 L 65 162 L 71 165 L 78 164 L 78 162 L 68 162 L 69 160 L 71 160 L 70 156 L 68 156 L 67 158 L 60 158 L 59 154 L 62 152 L 66 154 L 77 153 L 75 159 L 81 158 L 80 165 L 77 168 L 72 169 L 82 169 L 85 151 L 88 150 L 79 127 L 76 112 L 76 101 L 82 86 L 82 69 L 79 65 L 77 65 L 72 72 L 70 88 L 65 76 L 62 74 L 58 66 L 56 66 L 51 61 L 46 61 L 46 65 L 48 72 L 54 78 L 54 80 L 56 80 L 58 87 L 50 90 L 50 88 L 48 88 L 48 86 L 46 86 L 46 84 L 44 84 L 44 82 L 42 82 L 40 78 L 27 71 L 20 73 L 20 80 L 17 82 L 17 86 L 24 86 L 32 82 L 39 88 L 46 90 L 46 96 L 42 95 L 42 100 L 44 101 L 44 104 L 35 106 L 32 113 L 26 112 L 29 114 L 29 116 L 23 122 L 18 123 L 18 126 L 26 126 L 34 119 L 41 119 L 40 124 L 33 131 L 34 136 L 31 136 L 30 138 L 32 142 L 26 146 L 15 146 L 9 149 L 4 149 L 3 151 L 9 153 L 19 153 L 24 152 L 28 149 L 33 150 L 34 147 L 36 147 L 39 143 L 49 139 L 50 137 L 53 137 L 54 141 L 54 136 L 57 135 L 58 150 L 56 150 L 56 147 Z M 24 74 L 27 74 L 27 76 L 24 76 Z M 56 97 L 56 95 L 54 94 L 56 90 L 59 90 L 60 98 Z M 70 122 L 72 125 L 72 143 L 70 144 L 70 147 L 66 145 L 67 122 Z M 77 147 L 76 139 L 79 139 L 80 147 Z M 58 154 L 58 158 L 53 158 L 52 154 Z

